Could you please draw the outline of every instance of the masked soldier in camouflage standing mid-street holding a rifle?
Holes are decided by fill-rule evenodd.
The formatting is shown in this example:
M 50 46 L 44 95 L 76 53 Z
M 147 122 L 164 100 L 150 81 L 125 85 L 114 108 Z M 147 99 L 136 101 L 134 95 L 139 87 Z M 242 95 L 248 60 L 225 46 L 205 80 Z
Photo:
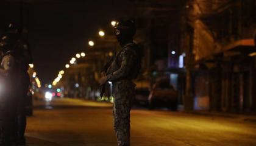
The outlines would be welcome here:
M 102 74 L 100 85 L 113 84 L 113 121 L 119 146 L 130 145 L 130 109 L 135 96 L 135 83 L 141 68 L 141 51 L 133 43 L 135 24 L 133 21 L 119 21 L 116 25 L 116 38 L 122 49 L 113 58 L 106 74 Z

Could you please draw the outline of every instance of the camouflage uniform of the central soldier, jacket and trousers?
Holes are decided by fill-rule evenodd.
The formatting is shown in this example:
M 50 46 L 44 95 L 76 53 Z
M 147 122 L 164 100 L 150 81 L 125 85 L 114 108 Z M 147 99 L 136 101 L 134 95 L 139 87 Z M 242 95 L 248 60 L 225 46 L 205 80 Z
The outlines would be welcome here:
M 126 44 L 107 71 L 107 81 L 113 83 L 113 122 L 119 146 L 130 145 L 130 108 L 136 86 L 132 79 L 137 76 L 138 64 L 135 46 L 135 43 Z

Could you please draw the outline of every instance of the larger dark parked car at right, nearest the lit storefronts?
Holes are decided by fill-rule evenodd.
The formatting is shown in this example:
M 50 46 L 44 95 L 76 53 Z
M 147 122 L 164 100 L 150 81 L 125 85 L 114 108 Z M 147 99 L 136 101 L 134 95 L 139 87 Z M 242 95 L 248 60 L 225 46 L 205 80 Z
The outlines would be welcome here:
M 168 82 L 155 83 L 149 94 L 149 109 L 155 107 L 167 107 L 177 110 L 178 92 Z

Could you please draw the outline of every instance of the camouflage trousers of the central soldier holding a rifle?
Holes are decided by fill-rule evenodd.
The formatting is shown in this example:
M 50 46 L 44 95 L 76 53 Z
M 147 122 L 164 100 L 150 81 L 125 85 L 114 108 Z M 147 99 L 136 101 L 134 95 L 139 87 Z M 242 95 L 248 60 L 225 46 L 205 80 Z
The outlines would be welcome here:
M 130 109 L 135 84 L 121 82 L 113 86 L 113 123 L 118 146 L 130 146 Z

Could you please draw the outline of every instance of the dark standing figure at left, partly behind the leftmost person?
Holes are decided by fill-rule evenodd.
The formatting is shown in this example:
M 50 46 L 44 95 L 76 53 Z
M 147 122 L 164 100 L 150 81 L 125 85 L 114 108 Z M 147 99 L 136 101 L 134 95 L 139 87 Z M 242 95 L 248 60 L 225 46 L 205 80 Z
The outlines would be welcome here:
M 15 42 L 16 60 L 20 69 L 20 90 L 18 91 L 18 144 L 26 145 L 26 101 L 27 92 L 29 91 L 30 77 L 27 70 L 32 63 L 32 55 L 28 43 L 21 37 L 22 29 L 16 24 L 10 23 L 8 32 L 15 33 L 18 39 Z

